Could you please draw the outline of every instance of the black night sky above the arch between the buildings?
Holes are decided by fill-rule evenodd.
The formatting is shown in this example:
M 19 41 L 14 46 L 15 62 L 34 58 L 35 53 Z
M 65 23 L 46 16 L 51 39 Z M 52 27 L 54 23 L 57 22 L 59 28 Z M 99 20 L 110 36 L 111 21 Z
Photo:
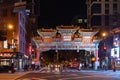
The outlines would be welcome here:
M 39 25 L 70 25 L 78 15 L 86 16 L 85 0 L 41 0 Z

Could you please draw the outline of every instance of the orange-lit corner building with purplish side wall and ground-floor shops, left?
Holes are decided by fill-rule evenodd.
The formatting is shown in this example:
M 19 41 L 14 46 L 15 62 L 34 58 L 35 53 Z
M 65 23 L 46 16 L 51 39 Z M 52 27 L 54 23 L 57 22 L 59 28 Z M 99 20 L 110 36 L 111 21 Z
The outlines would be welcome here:
M 14 12 L 14 4 L 21 0 L 0 0 L 0 27 L 5 29 L 6 40 L 1 41 L 0 65 L 11 65 L 21 70 L 26 53 L 26 15 L 24 10 Z

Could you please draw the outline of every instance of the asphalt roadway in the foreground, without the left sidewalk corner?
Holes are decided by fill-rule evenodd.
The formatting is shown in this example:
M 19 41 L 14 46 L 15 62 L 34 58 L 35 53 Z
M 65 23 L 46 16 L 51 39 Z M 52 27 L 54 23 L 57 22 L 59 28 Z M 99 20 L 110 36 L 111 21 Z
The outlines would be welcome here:
M 109 72 L 108 72 L 109 73 Z M 16 80 L 120 80 L 119 76 L 107 74 L 106 72 L 31 72 Z

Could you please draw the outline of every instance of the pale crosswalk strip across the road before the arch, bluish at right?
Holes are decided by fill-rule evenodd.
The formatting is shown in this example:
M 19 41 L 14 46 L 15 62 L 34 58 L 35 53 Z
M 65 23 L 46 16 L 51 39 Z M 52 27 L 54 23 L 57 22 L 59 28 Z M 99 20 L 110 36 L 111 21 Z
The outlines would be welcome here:
M 92 73 L 95 75 L 106 75 L 106 76 L 113 76 L 113 77 L 119 77 L 120 76 L 120 71 L 97 71 L 97 70 L 76 70 L 76 69 L 64 69 L 62 71 L 50 71 L 50 70 L 42 70 L 40 71 L 40 73 L 55 73 L 55 74 L 59 74 L 59 73 Z

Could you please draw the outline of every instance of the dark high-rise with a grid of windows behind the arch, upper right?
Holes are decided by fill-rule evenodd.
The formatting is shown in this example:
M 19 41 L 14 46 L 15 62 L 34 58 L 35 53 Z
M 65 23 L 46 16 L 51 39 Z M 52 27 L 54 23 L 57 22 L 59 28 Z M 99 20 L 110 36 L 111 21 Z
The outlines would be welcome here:
M 120 0 L 86 0 L 88 26 L 113 29 L 120 25 Z

